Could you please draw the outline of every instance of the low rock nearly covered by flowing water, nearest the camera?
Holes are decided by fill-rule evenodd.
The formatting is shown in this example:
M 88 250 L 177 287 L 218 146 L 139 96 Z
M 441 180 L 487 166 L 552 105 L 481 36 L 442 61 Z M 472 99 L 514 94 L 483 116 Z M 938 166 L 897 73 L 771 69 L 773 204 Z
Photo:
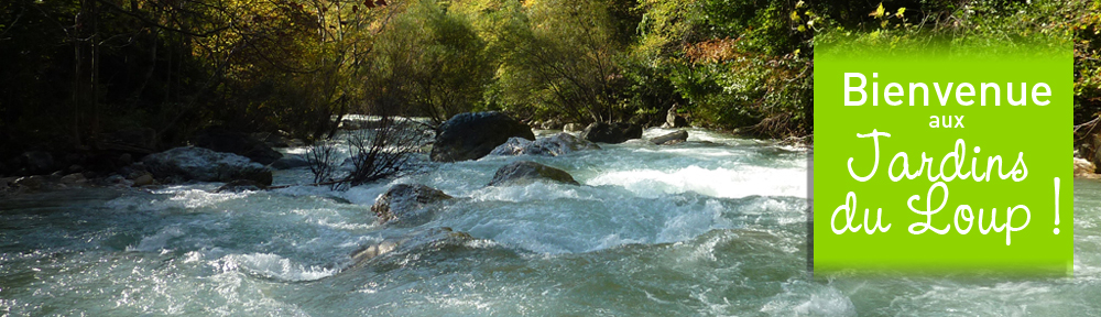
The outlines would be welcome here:
M 351 253 L 353 264 L 348 269 L 363 266 L 368 260 L 391 252 L 413 252 L 461 248 L 475 240 L 467 232 L 454 231 L 451 228 L 438 227 L 410 233 L 400 238 L 385 239 L 382 242 L 366 245 Z

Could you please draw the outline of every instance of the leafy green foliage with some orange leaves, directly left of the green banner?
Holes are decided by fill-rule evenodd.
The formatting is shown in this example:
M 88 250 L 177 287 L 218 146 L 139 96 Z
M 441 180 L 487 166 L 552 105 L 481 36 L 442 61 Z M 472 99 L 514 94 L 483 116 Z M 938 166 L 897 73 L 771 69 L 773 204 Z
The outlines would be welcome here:
M 813 51 L 821 19 L 805 3 L 647 0 L 639 8 L 645 13 L 632 54 L 663 69 L 678 97 L 672 103 L 695 124 L 761 136 L 809 133 L 813 73 L 804 70 L 811 62 L 799 52 Z M 771 123 L 759 125 L 763 120 Z

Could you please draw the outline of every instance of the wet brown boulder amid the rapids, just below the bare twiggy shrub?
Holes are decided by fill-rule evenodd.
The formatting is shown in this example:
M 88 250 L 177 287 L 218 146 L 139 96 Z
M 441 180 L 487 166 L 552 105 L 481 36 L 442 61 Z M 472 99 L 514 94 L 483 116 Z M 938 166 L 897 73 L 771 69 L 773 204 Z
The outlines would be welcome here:
M 379 223 L 401 223 L 416 226 L 430 220 L 435 209 L 429 205 L 451 199 L 444 192 L 424 185 L 397 184 L 379 196 L 371 211 L 379 217 Z

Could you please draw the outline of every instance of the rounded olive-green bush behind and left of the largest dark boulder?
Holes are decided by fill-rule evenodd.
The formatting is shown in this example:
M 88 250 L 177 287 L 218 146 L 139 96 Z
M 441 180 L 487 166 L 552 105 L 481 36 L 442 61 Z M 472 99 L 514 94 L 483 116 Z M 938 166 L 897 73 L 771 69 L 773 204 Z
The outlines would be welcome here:
M 424 116 L 436 122 L 470 111 L 492 76 L 483 41 L 469 19 L 436 1 L 411 4 L 373 43 L 359 74 L 368 110 Z

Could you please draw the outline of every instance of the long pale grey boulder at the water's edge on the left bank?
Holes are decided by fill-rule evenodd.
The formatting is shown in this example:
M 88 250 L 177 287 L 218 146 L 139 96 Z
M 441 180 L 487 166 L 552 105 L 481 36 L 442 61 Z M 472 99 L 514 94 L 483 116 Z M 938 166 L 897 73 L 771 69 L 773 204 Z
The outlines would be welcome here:
M 182 146 L 153 153 L 145 155 L 142 163 L 153 176 L 176 182 L 249 179 L 265 186 L 272 184 L 272 171 L 249 157 L 204 147 Z

